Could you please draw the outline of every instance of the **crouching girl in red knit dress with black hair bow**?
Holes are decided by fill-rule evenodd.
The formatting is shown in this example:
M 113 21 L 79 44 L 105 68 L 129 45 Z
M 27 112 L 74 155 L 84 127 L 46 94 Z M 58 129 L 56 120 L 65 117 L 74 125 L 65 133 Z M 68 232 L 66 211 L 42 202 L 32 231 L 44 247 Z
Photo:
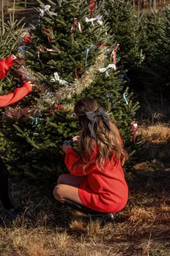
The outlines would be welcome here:
M 128 156 L 118 128 L 97 101 L 82 98 L 74 111 L 82 128 L 81 135 L 75 137 L 79 155 L 70 144 L 63 145 L 65 164 L 72 174 L 58 178 L 54 197 L 73 209 L 110 221 L 113 213 L 122 210 L 128 201 L 121 166 Z

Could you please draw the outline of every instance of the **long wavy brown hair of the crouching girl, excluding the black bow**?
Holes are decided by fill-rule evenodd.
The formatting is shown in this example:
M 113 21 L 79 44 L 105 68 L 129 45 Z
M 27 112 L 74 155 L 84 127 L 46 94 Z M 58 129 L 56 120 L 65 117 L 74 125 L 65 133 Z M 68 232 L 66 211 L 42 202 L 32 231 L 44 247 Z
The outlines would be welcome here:
M 86 117 L 86 112 L 95 112 L 100 105 L 92 98 L 82 98 L 75 104 L 74 112 L 78 116 L 79 124 L 81 125 L 82 131 L 79 140 L 80 159 L 75 165 L 79 164 L 84 160 L 84 151 L 88 154 L 88 161 L 86 161 L 83 169 L 92 161 L 91 156 L 94 152 L 94 148 L 97 144 L 97 154 L 95 155 L 95 165 L 104 170 L 104 163 L 112 161 L 113 166 L 119 162 L 123 165 L 125 160 L 128 159 L 128 153 L 123 149 L 122 139 L 118 128 L 111 121 L 110 130 L 107 129 L 101 119 L 97 118 L 97 135 L 96 138 L 92 138 L 91 132 L 89 131 L 88 124 L 89 120 Z

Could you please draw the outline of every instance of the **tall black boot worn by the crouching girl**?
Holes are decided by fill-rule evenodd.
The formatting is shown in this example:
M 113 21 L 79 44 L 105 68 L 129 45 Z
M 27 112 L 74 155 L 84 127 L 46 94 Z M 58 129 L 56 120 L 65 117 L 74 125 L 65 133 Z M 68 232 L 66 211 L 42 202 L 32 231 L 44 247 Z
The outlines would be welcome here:
M 72 209 L 77 210 L 78 212 L 82 212 L 89 217 L 101 218 L 104 222 L 113 222 L 114 219 L 113 213 L 97 212 L 68 199 L 65 199 L 64 205 L 69 206 Z

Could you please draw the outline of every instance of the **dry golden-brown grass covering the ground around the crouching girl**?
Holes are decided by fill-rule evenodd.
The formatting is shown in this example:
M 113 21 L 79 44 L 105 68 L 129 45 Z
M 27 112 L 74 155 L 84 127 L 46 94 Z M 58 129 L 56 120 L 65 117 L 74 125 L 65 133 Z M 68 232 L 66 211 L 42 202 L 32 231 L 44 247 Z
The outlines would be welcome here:
M 116 213 L 115 227 L 107 224 L 100 228 L 100 222 L 65 209 L 52 198 L 35 195 L 32 201 L 24 203 L 32 212 L 28 213 L 27 209 L 13 225 L 6 221 L 5 227 L 0 228 L 0 255 L 169 256 L 169 169 L 162 162 L 165 156 L 152 159 L 149 150 L 155 144 L 165 143 L 160 150 L 167 151 L 169 128 L 157 126 L 139 131 L 143 161 L 132 170 L 128 205 Z M 32 194 L 33 188 L 23 187 L 16 192 L 16 186 L 13 186 L 16 203 Z

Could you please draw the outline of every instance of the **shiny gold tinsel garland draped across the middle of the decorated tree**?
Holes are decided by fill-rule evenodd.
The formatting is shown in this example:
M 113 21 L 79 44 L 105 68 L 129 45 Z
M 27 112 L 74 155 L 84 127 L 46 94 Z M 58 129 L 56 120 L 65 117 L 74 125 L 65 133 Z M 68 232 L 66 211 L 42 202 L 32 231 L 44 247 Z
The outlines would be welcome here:
M 81 79 L 76 80 L 72 85 L 64 86 L 63 88 L 60 88 L 60 90 L 55 92 L 50 92 L 47 86 L 44 85 L 44 83 L 42 83 L 42 86 L 40 88 L 39 83 L 41 82 L 37 79 L 35 73 L 33 73 L 33 71 L 25 65 L 23 59 L 20 59 L 20 62 L 18 62 L 18 73 L 22 77 L 23 82 L 27 82 L 29 80 L 34 81 L 34 90 L 39 91 L 41 93 L 40 100 L 44 101 L 44 103 L 47 103 L 41 104 L 41 102 L 39 101 L 36 105 L 35 110 L 38 110 L 38 112 L 43 112 L 44 110 L 47 110 L 49 107 L 51 107 L 53 104 L 61 104 L 63 100 L 72 98 L 74 95 L 79 95 L 86 88 L 89 88 L 91 86 L 91 83 L 95 80 L 95 76 L 98 73 L 98 68 L 104 66 L 104 60 L 106 59 L 105 52 L 106 47 L 100 47 L 100 55 L 97 56 L 95 64 L 86 69 L 84 76 L 82 76 Z M 73 111 L 73 104 L 64 104 L 62 105 L 62 107 L 66 111 Z

